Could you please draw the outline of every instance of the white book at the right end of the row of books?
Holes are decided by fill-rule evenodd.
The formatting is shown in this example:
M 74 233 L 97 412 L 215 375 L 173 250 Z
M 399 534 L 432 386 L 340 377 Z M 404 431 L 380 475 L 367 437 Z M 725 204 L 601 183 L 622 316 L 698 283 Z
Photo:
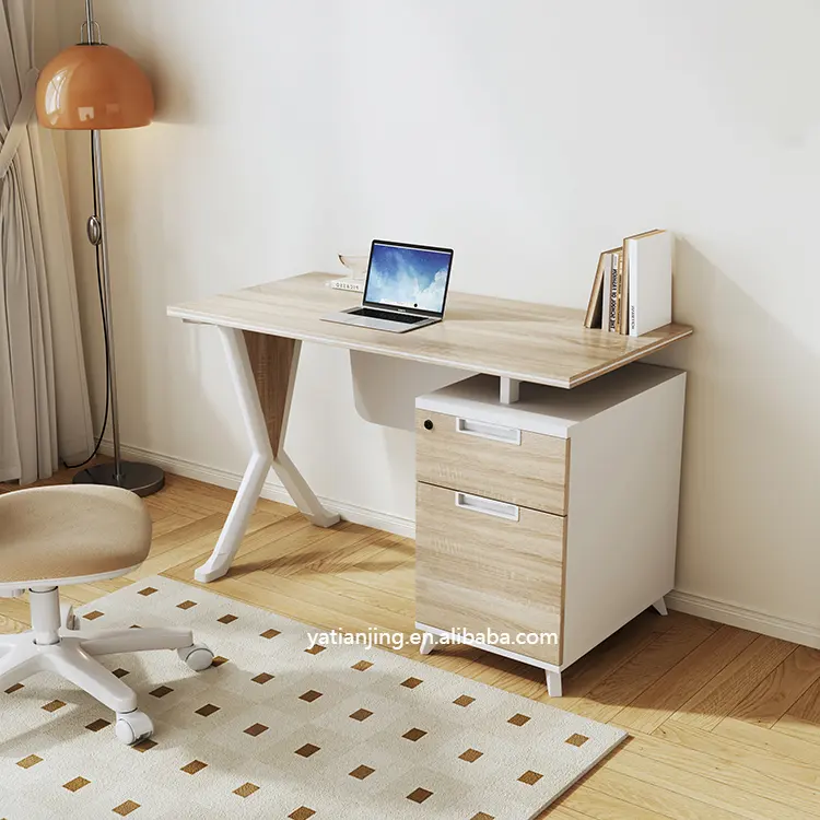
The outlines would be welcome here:
M 630 336 L 642 336 L 672 320 L 675 236 L 652 231 L 623 241 L 629 270 Z

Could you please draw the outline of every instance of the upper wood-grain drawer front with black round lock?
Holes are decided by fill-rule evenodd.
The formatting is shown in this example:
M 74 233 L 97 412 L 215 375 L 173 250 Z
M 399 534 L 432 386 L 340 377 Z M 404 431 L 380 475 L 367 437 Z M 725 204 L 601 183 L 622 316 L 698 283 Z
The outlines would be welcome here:
M 565 515 L 566 469 L 565 438 L 415 411 L 419 481 Z

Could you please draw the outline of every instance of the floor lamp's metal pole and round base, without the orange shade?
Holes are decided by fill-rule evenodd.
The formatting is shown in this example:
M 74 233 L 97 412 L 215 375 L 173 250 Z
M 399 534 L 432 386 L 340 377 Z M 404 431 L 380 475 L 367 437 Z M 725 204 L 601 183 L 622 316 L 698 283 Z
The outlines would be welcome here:
M 102 45 L 99 25 L 94 20 L 94 0 L 85 0 L 84 45 Z M 95 35 L 96 32 L 96 35 Z M 92 115 L 93 116 L 93 115 Z M 132 490 L 138 495 L 151 495 L 165 484 L 165 475 L 154 465 L 122 461 L 119 444 L 119 405 L 117 401 L 117 366 L 114 353 L 114 318 L 112 302 L 112 281 L 108 268 L 108 221 L 105 215 L 105 186 L 103 181 L 103 142 L 98 129 L 91 131 L 91 159 L 94 180 L 94 213 L 89 218 L 86 232 L 89 242 L 94 246 L 97 263 L 102 271 L 103 332 L 105 333 L 105 355 L 108 378 L 106 389 L 110 401 L 112 440 L 114 443 L 114 464 L 101 464 L 87 467 L 74 475 L 78 484 L 107 484 Z

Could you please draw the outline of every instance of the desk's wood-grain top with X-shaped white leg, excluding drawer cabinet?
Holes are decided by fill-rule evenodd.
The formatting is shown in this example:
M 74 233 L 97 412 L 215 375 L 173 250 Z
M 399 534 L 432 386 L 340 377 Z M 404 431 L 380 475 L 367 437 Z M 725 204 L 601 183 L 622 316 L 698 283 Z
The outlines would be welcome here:
M 172 305 L 168 315 L 219 328 L 251 456 L 225 526 L 200 582 L 224 575 L 245 534 L 268 471 L 273 468 L 294 503 L 320 527 L 339 516 L 327 511 L 288 457 L 284 440 L 303 341 L 425 365 L 499 376 L 515 400 L 517 382 L 571 389 L 692 333 L 667 325 L 633 338 L 584 328 L 584 312 L 512 300 L 450 293 L 446 318 L 408 333 L 386 333 L 321 317 L 356 303 L 356 294 L 305 273 L 235 293 Z

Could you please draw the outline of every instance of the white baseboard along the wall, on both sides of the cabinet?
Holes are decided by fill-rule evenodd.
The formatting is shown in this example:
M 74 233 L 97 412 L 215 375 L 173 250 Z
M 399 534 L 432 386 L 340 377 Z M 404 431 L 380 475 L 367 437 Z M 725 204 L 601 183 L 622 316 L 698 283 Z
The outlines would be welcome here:
M 110 455 L 110 442 L 104 441 L 101 452 L 105 455 Z M 185 476 L 197 481 L 216 484 L 216 487 L 225 487 L 230 490 L 236 490 L 242 481 L 239 473 L 220 470 L 161 453 L 153 453 L 140 447 L 124 446 L 121 452 L 125 458 L 155 464 L 157 467 L 162 467 L 167 472 L 176 476 Z M 295 506 L 282 484 L 270 479 L 265 482 L 262 497 Z M 337 501 L 336 499 L 318 497 L 328 509 L 339 513 L 344 520 L 361 524 L 365 527 L 383 529 L 387 532 L 394 532 L 397 536 L 403 536 L 405 538 L 415 537 L 415 522 L 411 518 L 402 518 L 401 516 L 367 509 L 366 507 L 360 507 L 355 504 Z M 666 602 L 669 609 L 675 609 L 679 612 L 706 618 L 718 623 L 726 623 L 730 626 L 759 632 L 763 635 L 780 637 L 784 641 L 793 641 L 797 644 L 820 649 L 820 626 L 812 626 L 811 624 L 799 623 L 797 621 L 787 621 L 765 612 L 746 609 L 745 607 L 739 607 L 716 598 L 703 598 L 692 593 L 673 590 L 666 596 Z

